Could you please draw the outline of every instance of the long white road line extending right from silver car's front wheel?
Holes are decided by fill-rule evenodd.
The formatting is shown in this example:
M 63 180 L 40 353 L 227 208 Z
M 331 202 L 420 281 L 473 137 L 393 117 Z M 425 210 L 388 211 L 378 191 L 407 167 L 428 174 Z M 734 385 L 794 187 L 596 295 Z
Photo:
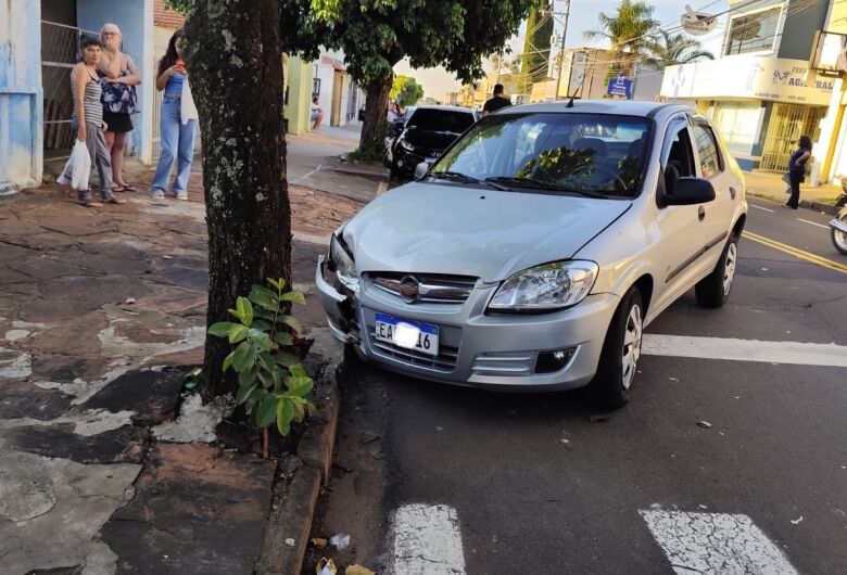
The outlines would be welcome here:
M 761 342 L 731 337 L 644 334 L 642 352 L 650 356 L 763 361 L 795 366 L 847 368 L 847 346 L 800 342 Z

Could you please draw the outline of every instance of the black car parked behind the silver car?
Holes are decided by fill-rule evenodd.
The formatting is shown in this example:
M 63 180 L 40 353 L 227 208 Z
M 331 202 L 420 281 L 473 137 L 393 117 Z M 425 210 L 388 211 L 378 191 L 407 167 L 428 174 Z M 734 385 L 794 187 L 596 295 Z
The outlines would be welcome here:
M 410 178 L 415 166 L 434 162 L 475 122 L 473 112 L 466 107 L 418 106 L 410 113 L 407 108 L 396 135 L 392 138 L 389 132 L 387 165 L 391 176 Z

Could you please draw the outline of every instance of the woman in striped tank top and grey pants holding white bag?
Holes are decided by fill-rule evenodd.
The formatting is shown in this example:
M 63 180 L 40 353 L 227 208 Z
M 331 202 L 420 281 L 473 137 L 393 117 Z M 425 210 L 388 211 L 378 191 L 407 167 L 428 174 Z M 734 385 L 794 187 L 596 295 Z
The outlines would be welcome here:
M 102 88 L 97 68 L 102 56 L 103 46 L 99 38 L 85 36 L 79 42 L 81 61 L 71 69 L 71 93 L 74 98 L 74 112 L 71 117 L 72 129 L 76 138 L 85 142 L 91 165 L 97 166 L 100 177 L 100 200 L 94 202 L 90 188 L 78 190 L 79 203 L 88 207 L 102 207 L 103 203 L 124 204 L 112 193 L 112 162 L 105 141 L 108 126 L 103 123 Z M 60 181 L 69 181 L 72 174 L 66 170 Z

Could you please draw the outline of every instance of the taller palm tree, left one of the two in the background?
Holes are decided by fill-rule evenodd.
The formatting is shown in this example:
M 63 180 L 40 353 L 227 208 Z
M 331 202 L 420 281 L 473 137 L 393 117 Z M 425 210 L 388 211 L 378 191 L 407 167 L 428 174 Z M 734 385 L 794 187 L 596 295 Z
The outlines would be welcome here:
M 610 75 L 619 69 L 629 72 L 632 62 L 647 53 L 655 41 L 654 29 L 659 25 L 653 17 L 653 10 L 642 0 L 621 0 L 615 14 L 599 13 L 599 28 L 584 33 L 586 40 L 608 40 L 611 43 L 616 63 Z

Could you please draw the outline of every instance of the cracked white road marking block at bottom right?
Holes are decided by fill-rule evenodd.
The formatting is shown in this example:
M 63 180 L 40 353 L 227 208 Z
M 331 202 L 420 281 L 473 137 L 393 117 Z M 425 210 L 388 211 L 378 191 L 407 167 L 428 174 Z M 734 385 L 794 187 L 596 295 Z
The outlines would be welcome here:
M 747 515 L 640 511 L 674 573 L 797 575 L 779 547 Z

